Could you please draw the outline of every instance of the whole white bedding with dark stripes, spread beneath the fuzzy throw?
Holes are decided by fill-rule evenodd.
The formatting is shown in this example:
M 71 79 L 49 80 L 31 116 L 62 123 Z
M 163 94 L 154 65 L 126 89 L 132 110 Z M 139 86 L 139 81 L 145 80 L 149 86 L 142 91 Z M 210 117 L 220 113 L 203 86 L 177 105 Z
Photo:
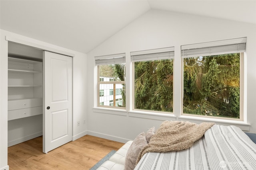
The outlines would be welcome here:
M 134 170 L 256 170 L 256 144 L 238 127 L 213 125 L 192 147 L 148 152 Z

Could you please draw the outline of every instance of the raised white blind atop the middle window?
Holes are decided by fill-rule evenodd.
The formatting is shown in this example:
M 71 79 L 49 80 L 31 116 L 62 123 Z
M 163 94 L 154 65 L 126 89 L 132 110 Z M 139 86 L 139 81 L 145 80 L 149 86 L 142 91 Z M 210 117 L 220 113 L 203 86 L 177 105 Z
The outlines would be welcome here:
M 131 61 L 174 59 L 174 47 L 131 52 Z

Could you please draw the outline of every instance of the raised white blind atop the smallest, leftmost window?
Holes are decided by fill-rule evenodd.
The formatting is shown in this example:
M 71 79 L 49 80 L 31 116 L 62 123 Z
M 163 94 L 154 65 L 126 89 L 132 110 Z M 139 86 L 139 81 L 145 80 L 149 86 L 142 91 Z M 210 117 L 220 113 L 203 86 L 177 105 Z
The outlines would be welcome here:
M 125 63 L 125 53 L 94 57 L 96 65 Z

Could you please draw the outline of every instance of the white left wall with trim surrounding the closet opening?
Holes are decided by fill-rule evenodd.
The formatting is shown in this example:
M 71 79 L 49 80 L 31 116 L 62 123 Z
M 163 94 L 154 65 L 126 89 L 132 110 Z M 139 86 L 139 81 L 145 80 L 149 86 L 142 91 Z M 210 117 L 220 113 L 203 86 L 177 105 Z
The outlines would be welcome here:
M 6 36 L 20 39 L 34 45 L 44 46 L 49 49 L 64 51 L 74 54 L 73 57 L 73 140 L 86 135 L 87 124 L 83 124 L 86 119 L 87 106 L 87 68 L 86 54 L 58 47 L 46 42 L 24 37 L 5 30 L 0 30 L 0 170 L 8 170 L 7 143 L 8 143 L 8 121 L 7 121 L 7 90 L 8 90 L 8 41 Z M 18 121 L 18 120 L 17 120 Z M 77 126 L 80 121 L 80 126 Z M 87 121 L 87 120 L 86 120 Z

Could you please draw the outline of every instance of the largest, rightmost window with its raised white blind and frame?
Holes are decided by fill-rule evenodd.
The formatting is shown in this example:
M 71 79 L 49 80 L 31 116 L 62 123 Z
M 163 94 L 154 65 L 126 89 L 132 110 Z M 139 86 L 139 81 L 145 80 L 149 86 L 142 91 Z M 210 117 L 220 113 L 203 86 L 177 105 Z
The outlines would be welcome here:
M 181 47 L 183 114 L 242 120 L 245 42 L 241 38 Z

